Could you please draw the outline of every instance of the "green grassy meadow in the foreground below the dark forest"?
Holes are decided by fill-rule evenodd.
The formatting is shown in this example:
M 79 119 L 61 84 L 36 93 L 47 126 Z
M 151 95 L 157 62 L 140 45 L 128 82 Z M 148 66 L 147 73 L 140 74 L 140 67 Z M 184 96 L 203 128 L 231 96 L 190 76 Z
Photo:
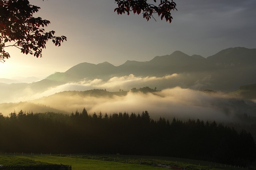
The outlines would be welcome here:
M 72 165 L 72 170 L 83 169 L 180 169 L 217 170 L 237 169 L 230 165 L 221 165 L 206 161 L 171 157 L 150 157 L 132 155 L 41 155 L 9 154 L 0 155 L 0 165 Z M 210 167 L 211 165 L 211 167 Z M 242 169 L 245 167 L 240 167 Z

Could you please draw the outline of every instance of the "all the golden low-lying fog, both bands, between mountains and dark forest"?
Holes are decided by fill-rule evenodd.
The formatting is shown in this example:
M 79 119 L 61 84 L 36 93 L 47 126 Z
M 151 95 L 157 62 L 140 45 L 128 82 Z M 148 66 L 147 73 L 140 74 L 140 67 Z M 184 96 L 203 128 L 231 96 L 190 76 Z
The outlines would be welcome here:
M 127 95 L 114 96 L 84 96 L 77 93 L 71 95 L 55 94 L 61 91 L 75 90 L 85 91 L 90 89 L 106 89 L 107 91 L 124 91 L 133 87 L 140 88 L 149 86 L 155 88 L 159 84 L 170 83 L 170 80 L 177 80 L 180 75 L 166 75 L 163 77 L 136 77 L 133 75 L 114 77 L 108 81 L 101 79 L 83 80 L 81 82 L 71 82 L 56 87 L 50 87 L 48 90 L 33 94 L 26 89 L 23 91 L 22 98 L 16 98 L 12 102 L 30 100 L 30 103 L 39 104 L 29 108 L 27 103 L 19 104 L 0 104 L 0 112 L 8 115 L 14 110 L 26 110 L 33 112 L 45 112 L 41 106 L 52 107 L 61 111 L 71 113 L 78 110 L 82 112 L 85 107 L 89 114 L 102 112 L 103 114 L 112 114 L 113 112 L 131 112 L 141 113 L 147 110 L 150 116 L 158 119 L 159 116 L 166 118 L 194 118 L 218 121 L 235 120 L 236 114 L 247 113 L 253 115 L 256 111 L 256 104 L 250 101 L 232 98 L 229 95 L 221 93 L 207 93 L 189 88 L 166 88 L 158 92 L 144 94 L 142 92 L 129 91 Z M 202 81 L 201 81 L 202 82 Z M 194 84 L 195 85 L 195 84 Z M 173 85 L 170 84 L 170 87 Z M 55 95 L 52 95 L 55 94 Z M 51 95 L 51 96 L 49 96 Z M 48 97 L 43 97 L 48 96 Z M 36 100 L 34 100 L 36 99 Z M 8 102 L 8 101 L 7 101 Z M 10 102 L 10 101 L 9 101 Z

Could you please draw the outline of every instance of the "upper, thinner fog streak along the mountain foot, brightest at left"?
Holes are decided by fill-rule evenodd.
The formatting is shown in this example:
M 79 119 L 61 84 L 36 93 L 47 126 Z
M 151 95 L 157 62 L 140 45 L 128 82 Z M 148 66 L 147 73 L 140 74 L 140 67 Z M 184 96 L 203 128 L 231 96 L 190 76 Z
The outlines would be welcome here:
M 48 84 L 1 84 L 0 83 L 0 103 L 20 102 L 38 99 L 43 96 L 49 96 L 61 91 L 86 91 L 91 89 L 106 89 L 108 91 L 124 91 L 130 90 L 133 87 L 157 87 L 157 90 L 165 88 L 173 88 L 176 86 L 182 88 L 191 88 L 195 90 L 204 90 L 211 79 L 211 75 L 199 76 L 195 80 L 195 75 L 191 74 L 172 74 L 163 77 L 138 77 L 134 75 L 113 77 L 109 80 L 94 79 L 81 80 L 80 82 L 69 82 L 59 86 L 48 86 Z M 35 87 L 36 86 L 36 87 Z M 46 88 L 45 88 L 46 86 Z

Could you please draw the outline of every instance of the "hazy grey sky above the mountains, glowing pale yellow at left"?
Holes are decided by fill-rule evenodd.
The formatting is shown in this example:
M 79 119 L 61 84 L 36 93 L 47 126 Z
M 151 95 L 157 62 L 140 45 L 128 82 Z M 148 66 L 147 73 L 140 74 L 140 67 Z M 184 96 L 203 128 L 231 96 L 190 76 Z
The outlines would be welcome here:
M 46 44 L 42 58 L 5 48 L 11 58 L 0 63 L 0 78 L 45 78 L 76 64 L 149 61 L 179 50 L 208 57 L 229 47 L 256 48 L 255 0 L 174 0 L 172 23 L 155 15 L 117 15 L 114 0 L 29 0 L 41 7 L 35 17 L 50 20 L 47 31 L 65 35 L 60 47 Z M 149 0 L 150 1 L 150 0 Z

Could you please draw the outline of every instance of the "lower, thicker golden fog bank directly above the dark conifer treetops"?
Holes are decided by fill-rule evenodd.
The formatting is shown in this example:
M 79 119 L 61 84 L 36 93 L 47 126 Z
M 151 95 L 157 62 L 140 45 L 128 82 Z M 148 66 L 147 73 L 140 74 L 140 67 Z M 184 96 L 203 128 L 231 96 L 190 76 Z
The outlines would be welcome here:
M 75 112 L 76 109 L 82 111 L 85 107 L 89 114 L 100 111 L 108 114 L 124 111 L 137 114 L 147 110 L 155 119 L 159 116 L 172 119 L 175 116 L 184 119 L 236 121 L 237 114 L 253 114 L 255 111 L 253 102 L 245 103 L 244 100 L 230 98 L 224 94 L 210 94 L 180 87 L 168 88 L 153 94 L 130 91 L 127 95 L 120 96 L 63 96 L 60 93 L 34 100 L 34 103 L 69 112 Z

